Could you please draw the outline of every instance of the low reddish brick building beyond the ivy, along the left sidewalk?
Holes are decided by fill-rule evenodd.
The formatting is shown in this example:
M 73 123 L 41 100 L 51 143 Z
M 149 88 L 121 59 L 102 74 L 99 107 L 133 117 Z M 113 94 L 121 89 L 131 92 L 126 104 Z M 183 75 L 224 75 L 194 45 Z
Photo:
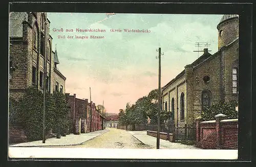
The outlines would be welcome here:
M 88 99 L 76 98 L 76 94 L 73 96 L 66 93 L 68 101 L 69 119 L 72 123 L 71 129 L 74 131 L 75 119 L 81 119 L 81 132 L 86 133 L 90 131 L 96 131 L 102 129 L 102 115 L 99 110 L 96 109 L 95 103 L 92 102 L 92 119 L 91 119 L 91 103 Z M 91 126 L 92 120 L 92 126 Z M 91 129 L 92 127 L 92 129 Z

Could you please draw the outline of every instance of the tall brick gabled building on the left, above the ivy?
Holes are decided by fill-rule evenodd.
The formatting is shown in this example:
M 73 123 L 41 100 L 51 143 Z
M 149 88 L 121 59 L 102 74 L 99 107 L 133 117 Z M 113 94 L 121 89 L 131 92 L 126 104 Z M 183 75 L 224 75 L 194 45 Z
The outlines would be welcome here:
M 47 64 L 47 91 L 65 93 L 66 77 L 57 68 L 49 34 L 50 20 L 44 12 L 11 12 L 9 20 L 9 96 L 19 99 L 30 86 L 44 88 Z

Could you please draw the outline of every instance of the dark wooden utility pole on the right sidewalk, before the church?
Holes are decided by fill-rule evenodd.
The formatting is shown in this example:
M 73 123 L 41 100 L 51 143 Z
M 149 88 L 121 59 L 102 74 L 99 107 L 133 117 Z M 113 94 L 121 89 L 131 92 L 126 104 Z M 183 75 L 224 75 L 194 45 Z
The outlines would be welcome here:
M 159 69 L 158 69 L 158 111 L 157 111 L 157 149 L 160 146 L 160 110 L 161 110 L 161 47 L 157 49 L 158 51 L 158 58 L 159 59 Z

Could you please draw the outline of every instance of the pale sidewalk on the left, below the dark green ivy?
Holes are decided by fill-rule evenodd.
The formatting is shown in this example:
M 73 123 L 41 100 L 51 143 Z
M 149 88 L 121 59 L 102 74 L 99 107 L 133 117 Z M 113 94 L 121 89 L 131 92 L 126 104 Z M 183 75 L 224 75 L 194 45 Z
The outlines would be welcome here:
M 108 129 L 93 131 L 90 133 L 81 133 L 77 134 L 69 134 L 66 136 L 61 136 L 61 138 L 47 138 L 46 143 L 42 143 L 42 141 L 33 141 L 27 143 L 19 143 L 15 145 L 10 145 L 9 147 L 44 147 L 44 146 L 75 146 L 81 145 L 84 142 L 91 140 L 105 132 L 108 132 Z

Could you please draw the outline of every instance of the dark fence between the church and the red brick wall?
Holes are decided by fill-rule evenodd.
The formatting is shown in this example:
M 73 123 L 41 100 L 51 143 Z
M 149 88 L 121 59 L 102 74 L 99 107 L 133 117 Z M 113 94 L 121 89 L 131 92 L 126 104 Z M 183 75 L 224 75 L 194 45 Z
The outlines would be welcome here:
M 185 124 L 185 127 L 175 128 L 175 140 L 190 140 L 196 141 L 196 124 Z

